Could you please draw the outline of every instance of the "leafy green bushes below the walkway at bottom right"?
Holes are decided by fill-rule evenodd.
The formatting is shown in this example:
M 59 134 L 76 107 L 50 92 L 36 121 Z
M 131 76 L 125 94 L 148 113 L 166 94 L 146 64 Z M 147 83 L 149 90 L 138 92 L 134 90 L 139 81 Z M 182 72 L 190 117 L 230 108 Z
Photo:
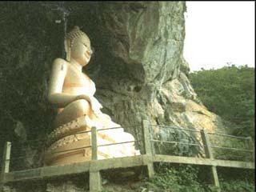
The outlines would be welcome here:
M 157 167 L 158 173 L 149 180 L 149 186 L 158 187 L 159 191 L 171 192 L 217 192 L 218 187 L 206 184 L 199 178 L 199 168 L 191 165 L 168 166 L 166 164 Z M 204 178 L 209 178 L 209 174 L 203 171 Z M 245 174 L 241 172 L 241 174 Z M 252 182 L 245 179 L 227 179 L 220 176 L 220 185 L 225 192 L 250 192 L 254 191 L 255 186 Z M 245 174 L 246 176 L 246 174 Z

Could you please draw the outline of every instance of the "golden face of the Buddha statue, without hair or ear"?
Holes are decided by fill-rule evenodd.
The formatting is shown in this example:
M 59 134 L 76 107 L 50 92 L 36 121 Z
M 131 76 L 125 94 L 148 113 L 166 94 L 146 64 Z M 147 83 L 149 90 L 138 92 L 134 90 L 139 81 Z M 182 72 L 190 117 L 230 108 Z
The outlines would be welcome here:
M 73 46 L 70 48 L 71 58 L 74 58 L 81 66 L 86 66 L 91 54 L 90 39 L 86 35 L 80 35 L 74 39 Z

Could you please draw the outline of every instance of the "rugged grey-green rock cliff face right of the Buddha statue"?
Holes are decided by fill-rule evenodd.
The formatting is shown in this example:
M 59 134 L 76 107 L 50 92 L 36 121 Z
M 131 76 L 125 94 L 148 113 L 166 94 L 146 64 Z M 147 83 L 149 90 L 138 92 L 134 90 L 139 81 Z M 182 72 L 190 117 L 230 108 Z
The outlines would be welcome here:
M 96 64 L 100 70 L 92 78 L 96 97 L 115 122 L 133 134 L 128 126 L 140 125 L 142 119 L 154 125 L 222 129 L 187 78 L 185 2 L 99 3 L 95 10 L 100 42 L 92 43 L 102 53 Z

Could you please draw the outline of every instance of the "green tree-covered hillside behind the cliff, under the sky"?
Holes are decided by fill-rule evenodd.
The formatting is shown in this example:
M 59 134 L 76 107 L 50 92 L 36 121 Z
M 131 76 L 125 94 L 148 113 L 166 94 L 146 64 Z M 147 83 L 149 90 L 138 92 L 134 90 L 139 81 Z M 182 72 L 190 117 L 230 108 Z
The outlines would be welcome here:
M 224 66 L 189 74 L 190 82 L 206 107 L 233 123 L 233 134 L 254 138 L 254 68 Z

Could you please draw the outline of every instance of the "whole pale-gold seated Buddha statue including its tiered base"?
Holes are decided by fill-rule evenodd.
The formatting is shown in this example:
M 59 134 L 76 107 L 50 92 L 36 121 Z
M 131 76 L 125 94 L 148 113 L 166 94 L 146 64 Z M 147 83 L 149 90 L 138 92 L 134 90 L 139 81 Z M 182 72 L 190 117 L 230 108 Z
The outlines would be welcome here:
M 98 159 L 140 154 L 134 148 L 133 135 L 102 113 L 102 104 L 94 97 L 95 84 L 82 73 L 93 51 L 90 39 L 78 26 L 66 34 L 65 50 L 66 60 L 56 58 L 50 75 L 48 100 L 58 114 L 47 138 L 44 164 L 90 161 L 92 126 L 98 129 L 98 145 L 106 145 L 98 147 Z M 117 142 L 122 144 L 109 145 Z

